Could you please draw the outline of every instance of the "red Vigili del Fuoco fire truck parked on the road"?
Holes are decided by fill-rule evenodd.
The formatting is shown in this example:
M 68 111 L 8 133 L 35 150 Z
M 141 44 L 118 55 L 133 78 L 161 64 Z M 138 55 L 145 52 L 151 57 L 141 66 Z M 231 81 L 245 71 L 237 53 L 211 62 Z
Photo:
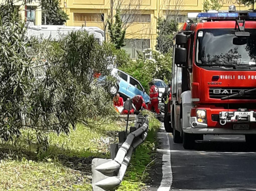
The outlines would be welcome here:
M 201 12 L 176 35 L 165 128 L 193 148 L 204 134 L 256 143 L 256 12 Z

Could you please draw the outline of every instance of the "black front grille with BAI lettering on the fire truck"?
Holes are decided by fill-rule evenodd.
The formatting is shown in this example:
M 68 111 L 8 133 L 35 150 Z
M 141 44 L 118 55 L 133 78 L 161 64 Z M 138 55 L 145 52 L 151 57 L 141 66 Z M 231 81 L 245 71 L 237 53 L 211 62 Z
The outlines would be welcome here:
M 251 91 L 246 92 L 248 90 Z M 256 88 L 211 87 L 209 89 L 209 96 L 215 99 L 256 99 Z

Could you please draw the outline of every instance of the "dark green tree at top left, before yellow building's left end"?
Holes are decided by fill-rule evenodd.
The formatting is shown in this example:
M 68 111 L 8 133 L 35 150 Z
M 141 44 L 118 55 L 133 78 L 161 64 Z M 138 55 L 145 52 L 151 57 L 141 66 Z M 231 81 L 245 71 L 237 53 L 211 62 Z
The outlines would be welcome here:
M 60 0 L 40 0 L 42 7 L 42 24 L 62 25 L 68 15 L 60 7 Z

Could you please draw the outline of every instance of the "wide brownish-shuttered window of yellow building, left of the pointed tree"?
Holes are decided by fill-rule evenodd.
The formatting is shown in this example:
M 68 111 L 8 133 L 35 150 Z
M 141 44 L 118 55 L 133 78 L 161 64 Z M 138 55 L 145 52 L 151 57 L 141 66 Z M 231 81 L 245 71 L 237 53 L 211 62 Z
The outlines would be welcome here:
M 104 22 L 104 14 L 74 13 L 74 21 Z

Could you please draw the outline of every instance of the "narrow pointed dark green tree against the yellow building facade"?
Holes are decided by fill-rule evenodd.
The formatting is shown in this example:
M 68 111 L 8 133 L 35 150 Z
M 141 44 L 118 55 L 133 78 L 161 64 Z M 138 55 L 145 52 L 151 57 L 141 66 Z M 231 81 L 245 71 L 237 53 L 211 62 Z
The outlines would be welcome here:
M 116 9 L 116 14 L 114 15 L 114 23 L 108 22 L 108 32 L 110 41 L 114 44 L 117 49 L 124 46 L 125 30 L 122 29 L 122 20 L 120 16 L 120 9 Z

